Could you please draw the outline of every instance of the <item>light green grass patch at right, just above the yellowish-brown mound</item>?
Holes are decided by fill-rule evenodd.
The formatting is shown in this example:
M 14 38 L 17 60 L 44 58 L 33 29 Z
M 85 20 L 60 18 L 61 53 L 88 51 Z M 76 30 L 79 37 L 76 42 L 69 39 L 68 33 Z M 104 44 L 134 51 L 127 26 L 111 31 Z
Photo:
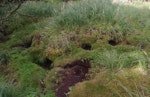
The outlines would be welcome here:
M 135 65 L 147 66 L 147 59 L 141 51 L 120 53 L 116 50 L 93 51 L 90 55 L 93 64 L 105 66 L 111 70 L 115 68 L 132 67 Z

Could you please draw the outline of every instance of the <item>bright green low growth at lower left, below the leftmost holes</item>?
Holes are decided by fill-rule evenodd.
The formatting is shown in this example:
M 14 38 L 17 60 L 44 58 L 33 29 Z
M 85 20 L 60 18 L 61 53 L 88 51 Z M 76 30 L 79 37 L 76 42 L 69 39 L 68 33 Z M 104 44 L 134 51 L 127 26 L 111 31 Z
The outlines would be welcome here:
M 13 60 L 10 63 L 11 66 L 9 70 L 13 72 L 13 76 L 10 76 L 10 79 L 17 80 L 18 85 L 16 87 L 16 92 L 18 97 L 35 97 L 37 95 L 43 95 L 41 80 L 45 80 L 46 70 L 32 63 L 30 58 L 30 55 L 26 51 L 23 51 L 21 54 L 12 54 Z M 51 84 L 51 82 L 49 82 L 49 84 Z M 22 93 L 22 91 L 24 92 Z M 46 93 L 47 96 L 42 97 L 55 97 L 52 91 L 46 91 L 49 91 Z

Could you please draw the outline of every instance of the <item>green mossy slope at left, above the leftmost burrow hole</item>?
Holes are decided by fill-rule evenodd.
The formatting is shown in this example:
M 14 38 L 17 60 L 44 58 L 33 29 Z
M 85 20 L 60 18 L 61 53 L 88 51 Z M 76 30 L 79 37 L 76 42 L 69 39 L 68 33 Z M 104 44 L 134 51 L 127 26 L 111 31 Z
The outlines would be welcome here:
M 47 20 L 47 19 L 46 19 Z M 25 27 L 20 27 L 16 29 L 12 35 L 9 36 L 10 40 L 5 43 L 2 47 L 4 48 L 11 48 L 12 46 L 18 45 L 18 44 L 24 44 L 26 42 L 29 42 L 32 40 L 32 36 L 34 34 L 38 34 L 40 29 L 43 29 L 47 22 L 46 20 L 42 20 L 38 23 L 31 23 Z M 24 30 L 22 30 L 24 29 Z M 42 33 L 40 33 L 42 35 Z

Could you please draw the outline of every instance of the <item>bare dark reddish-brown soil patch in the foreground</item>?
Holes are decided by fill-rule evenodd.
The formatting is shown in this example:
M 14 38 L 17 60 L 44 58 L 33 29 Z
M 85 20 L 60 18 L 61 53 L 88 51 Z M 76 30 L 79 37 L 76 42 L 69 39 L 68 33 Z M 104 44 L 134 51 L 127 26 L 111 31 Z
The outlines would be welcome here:
M 63 70 L 58 72 L 62 74 L 62 80 L 54 89 L 56 96 L 67 97 L 69 87 L 86 80 L 86 74 L 88 73 L 89 68 L 89 60 L 77 60 L 71 64 L 66 64 L 63 67 Z

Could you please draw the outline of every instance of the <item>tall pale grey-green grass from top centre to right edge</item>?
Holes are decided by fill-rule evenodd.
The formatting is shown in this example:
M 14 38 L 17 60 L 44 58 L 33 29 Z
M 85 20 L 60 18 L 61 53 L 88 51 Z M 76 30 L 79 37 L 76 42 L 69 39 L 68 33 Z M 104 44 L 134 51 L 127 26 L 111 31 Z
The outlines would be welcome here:
M 116 33 L 129 33 L 135 32 L 136 29 L 142 30 L 149 21 L 149 9 L 112 4 L 110 0 L 70 2 L 62 5 L 61 9 L 61 12 L 54 18 L 55 26 L 58 27 L 70 28 L 99 22 L 110 24 L 113 28 L 110 30 Z

